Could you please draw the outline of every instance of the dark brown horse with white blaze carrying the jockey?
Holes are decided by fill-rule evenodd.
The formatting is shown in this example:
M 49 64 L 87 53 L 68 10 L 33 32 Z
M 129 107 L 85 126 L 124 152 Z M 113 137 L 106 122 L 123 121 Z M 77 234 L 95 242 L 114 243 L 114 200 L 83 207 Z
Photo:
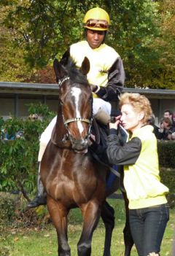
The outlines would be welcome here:
M 85 57 L 79 70 L 70 58 L 66 66 L 55 59 L 53 66 L 58 81 L 58 115 L 42 157 L 40 174 L 47 193 L 47 209 L 58 236 L 58 256 L 71 255 L 67 216 L 75 207 L 79 207 L 83 218 L 77 255 L 91 255 L 93 231 L 102 217 L 106 228 L 104 256 L 109 256 L 114 209 L 106 202 L 106 196 L 117 190 L 120 182 L 116 177 L 114 186 L 106 190 L 109 167 L 94 159 L 88 147 L 93 122 L 93 96 L 86 78 L 90 63 Z M 124 233 L 130 234 L 128 224 Z M 130 255 L 132 247 L 132 240 L 128 240 L 125 256 Z

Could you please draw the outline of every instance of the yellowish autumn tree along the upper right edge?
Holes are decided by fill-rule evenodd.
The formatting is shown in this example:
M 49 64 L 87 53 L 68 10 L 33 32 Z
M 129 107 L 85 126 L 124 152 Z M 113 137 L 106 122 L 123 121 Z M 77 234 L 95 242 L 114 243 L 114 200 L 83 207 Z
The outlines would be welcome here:
M 155 88 L 175 89 L 175 1 L 159 1 L 160 35 L 152 48 L 159 53 L 158 71 L 152 75 Z

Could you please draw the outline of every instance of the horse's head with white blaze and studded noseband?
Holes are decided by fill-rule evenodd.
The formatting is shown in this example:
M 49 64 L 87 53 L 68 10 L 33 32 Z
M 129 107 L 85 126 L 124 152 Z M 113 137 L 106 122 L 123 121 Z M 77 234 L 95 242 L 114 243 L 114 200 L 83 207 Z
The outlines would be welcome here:
M 93 96 L 86 78 L 90 62 L 85 58 L 80 70 L 71 58 L 66 66 L 55 59 L 53 66 L 59 86 L 60 114 L 67 131 L 63 139 L 71 141 L 75 152 L 87 152 L 93 113 Z

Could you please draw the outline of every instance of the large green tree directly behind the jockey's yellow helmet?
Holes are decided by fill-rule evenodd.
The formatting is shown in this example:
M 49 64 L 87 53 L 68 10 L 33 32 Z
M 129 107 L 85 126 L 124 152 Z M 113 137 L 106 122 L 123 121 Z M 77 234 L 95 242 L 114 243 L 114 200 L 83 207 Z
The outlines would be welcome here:
M 31 66 L 35 74 L 52 62 L 55 55 L 61 58 L 71 43 L 82 39 L 85 12 L 92 7 L 102 7 L 112 20 L 106 42 L 123 58 L 126 86 L 158 88 L 164 69 L 163 47 L 160 45 L 166 45 L 169 57 L 171 55 L 172 60 L 174 57 L 166 36 L 159 43 L 160 25 L 163 26 L 161 20 L 168 18 L 168 13 L 160 10 L 160 6 L 164 9 L 166 1 L 171 3 L 173 0 L 15 0 L 2 1 L 1 4 L 12 8 L 4 19 L 4 25 L 15 31 L 15 51 L 23 49 L 26 65 Z M 164 83 L 168 81 L 168 86 L 174 82 L 167 78 L 174 67 L 171 69 L 164 76 Z

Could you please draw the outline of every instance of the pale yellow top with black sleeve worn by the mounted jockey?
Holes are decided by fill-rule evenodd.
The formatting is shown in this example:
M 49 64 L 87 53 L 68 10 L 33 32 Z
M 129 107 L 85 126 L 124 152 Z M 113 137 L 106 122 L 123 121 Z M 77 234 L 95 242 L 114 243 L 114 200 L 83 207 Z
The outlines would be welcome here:
M 95 97 L 110 101 L 112 93 L 113 96 L 114 93 L 120 94 L 125 80 L 125 72 L 120 55 L 112 47 L 101 44 L 100 47 L 92 49 L 87 41 L 81 41 L 71 44 L 70 55 L 77 67 L 82 66 L 85 57 L 89 59 L 88 82 L 101 87 Z M 110 70 L 113 65 L 115 65 L 114 69 Z M 109 88 L 106 88 L 108 86 Z

